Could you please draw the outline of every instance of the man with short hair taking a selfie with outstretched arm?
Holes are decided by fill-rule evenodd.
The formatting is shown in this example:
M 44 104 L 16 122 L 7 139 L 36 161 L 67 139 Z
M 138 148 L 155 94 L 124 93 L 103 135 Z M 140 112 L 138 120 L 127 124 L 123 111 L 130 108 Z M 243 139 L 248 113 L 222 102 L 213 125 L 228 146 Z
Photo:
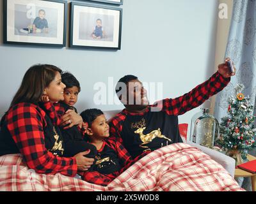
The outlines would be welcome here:
M 116 94 L 125 109 L 109 122 L 110 138 L 124 145 L 134 158 L 145 151 L 153 151 L 182 142 L 178 115 L 202 105 L 209 97 L 222 91 L 230 82 L 227 61 L 209 80 L 192 91 L 174 99 L 163 99 L 149 105 L 147 91 L 138 77 L 126 75 L 116 85 Z

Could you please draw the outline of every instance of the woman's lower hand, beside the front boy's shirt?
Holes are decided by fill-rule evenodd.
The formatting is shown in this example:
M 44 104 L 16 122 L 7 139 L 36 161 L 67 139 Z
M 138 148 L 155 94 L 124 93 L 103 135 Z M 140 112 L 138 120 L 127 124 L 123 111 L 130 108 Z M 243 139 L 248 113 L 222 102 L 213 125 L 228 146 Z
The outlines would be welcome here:
M 76 158 L 77 170 L 87 171 L 92 166 L 94 159 L 84 157 L 89 153 L 90 149 L 85 152 L 80 152 L 74 156 Z

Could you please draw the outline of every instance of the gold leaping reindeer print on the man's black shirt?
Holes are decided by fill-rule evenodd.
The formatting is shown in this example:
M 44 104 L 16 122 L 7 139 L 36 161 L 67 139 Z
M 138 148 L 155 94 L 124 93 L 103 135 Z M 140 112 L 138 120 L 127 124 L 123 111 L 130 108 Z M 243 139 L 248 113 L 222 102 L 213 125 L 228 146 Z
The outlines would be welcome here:
M 157 130 L 152 131 L 151 133 L 148 133 L 147 135 L 143 134 L 143 131 L 146 129 L 146 121 L 145 119 L 142 119 L 140 122 L 136 122 L 131 124 L 131 128 L 138 128 L 136 131 L 134 131 L 134 133 L 137 133 L 140 135 L 140 140 L 141 143 L 140 147 L 142 148 L 148 148 L 147 146 L 143 146 L 146 145 L 147 143 L 152 142 L 152 140 L 154 140 L 154 138 L 164 138 L 170 142 L 172 142 L 172 140 L 170 138 L 166 138 L 166 136 L 162 135 L 160 128 L 158 128 Z

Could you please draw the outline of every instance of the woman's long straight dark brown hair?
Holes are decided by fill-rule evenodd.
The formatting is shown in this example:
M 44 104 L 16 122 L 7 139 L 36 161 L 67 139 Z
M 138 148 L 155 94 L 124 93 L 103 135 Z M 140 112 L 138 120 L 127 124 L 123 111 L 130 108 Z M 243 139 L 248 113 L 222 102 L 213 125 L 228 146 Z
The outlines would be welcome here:
M 36 64 L 26 71 L 19 90 L 12 99 L 10 105 L 17 103 L 38 103 L 45 87 L 56 77 L 56 72 L 61 74 L 61 69 L 51 64 Z

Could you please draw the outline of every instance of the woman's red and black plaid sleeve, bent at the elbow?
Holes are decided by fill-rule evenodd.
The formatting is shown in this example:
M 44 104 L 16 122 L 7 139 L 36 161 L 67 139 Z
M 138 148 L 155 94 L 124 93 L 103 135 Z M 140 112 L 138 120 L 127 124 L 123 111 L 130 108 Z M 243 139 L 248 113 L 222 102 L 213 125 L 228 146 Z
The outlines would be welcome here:
M 38 173 L 61 173 L 74 177 L 77 173 L 74 157 L 54 156 L 45 149 L 43 113 L 29 103 L 15 106 L 6 119 L 7 128 L 29 168 Z

